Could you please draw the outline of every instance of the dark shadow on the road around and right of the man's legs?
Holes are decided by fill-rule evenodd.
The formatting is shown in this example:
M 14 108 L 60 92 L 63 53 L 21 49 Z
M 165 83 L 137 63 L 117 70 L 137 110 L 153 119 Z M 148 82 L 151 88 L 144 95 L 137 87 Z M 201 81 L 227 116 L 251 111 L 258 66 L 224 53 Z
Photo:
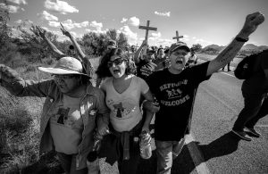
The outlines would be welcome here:
M 190 142 L 188 145 L 197 145 L 201 153 L 203 153 L 204 161 L 208 161 L 214 157 L 219 157 L 235 152 L 239 146 L 239 138 L 235 137 L 231 132 L 224 134 L 222 137 L 215 139 L 208 145 L 199 145 L 199 142 Z M 141 160 L 138 165 L 138 174 L 155 174 L 156 173 L 156 153 L 148 160 Z M 201 162 L 197 163 L 199 165 Z M 187 145 L 173 161 L 172 174 L 188 174 L 196 169 Z

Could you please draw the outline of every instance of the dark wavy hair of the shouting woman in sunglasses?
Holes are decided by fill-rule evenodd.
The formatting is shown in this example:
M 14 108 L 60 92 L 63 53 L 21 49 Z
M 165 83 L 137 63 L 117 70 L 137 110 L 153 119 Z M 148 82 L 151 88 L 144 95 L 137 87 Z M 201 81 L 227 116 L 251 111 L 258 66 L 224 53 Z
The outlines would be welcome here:
M 131 64 L 130 64 L 130 60 L 129 60 L 127 54 L 125 54 L 120 48 L 112 48 L 112 50 L 109 53 L 106 53 L 103 56 L 100 64 L 97 67 L 96 75 L 99 78 L 107 78 L 107 77 L 113 76 L 112 73 L 110 72 L 109 68 L 107 67 L 107 63 L 111 60 L 111 57 L 113 55 L 120 56 L 122 59 L 125 60 L 125 62 L 127 64 L 127 68 L 125 71 L 126 75 L 129 75 L 135 71 L 135 68 L 133 68 L 133 66 L 131 66 Z

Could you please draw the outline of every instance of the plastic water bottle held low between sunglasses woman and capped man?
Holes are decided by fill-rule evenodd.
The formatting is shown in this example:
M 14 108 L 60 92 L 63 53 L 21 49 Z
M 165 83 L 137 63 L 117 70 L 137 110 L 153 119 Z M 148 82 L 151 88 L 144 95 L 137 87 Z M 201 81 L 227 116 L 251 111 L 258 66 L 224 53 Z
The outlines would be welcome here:
M 147 131 L 142 131 L 140 134 L 140 156 L 143 159 L 149 159 L 152 156 L 151 136 Z

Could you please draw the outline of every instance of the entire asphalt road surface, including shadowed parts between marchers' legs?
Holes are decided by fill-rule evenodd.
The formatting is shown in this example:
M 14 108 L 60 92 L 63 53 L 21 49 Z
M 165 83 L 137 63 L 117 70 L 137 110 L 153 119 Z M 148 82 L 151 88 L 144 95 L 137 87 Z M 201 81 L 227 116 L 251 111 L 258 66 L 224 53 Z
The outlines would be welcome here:
M 233 70 L 233 67 L 231 68 Z M 242 80 L 220 70 L 201 83 L 197 91 L 190 134 L 180 156 L 173 162 L 177 173 L 268 173 L 268 117 L 256 129 L 262 137 L 247 142 L 230 130 L 243 108 Z M 153 150 L 155 147 L 153 148 Z M 102 173 L 118 173 L 101 160 Z M 155 173 L 156 156 L 141 160 L 138 174 Z

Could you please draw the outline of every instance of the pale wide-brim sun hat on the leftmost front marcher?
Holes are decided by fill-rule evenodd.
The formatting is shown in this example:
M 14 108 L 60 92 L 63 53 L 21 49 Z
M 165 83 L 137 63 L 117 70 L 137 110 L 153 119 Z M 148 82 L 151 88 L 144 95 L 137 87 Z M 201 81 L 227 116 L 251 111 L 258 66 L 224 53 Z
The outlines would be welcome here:
M 88 74 L 83 73 L 82 63 L 73 57 L 63 57 L 56 62 L 53 68 L 38 67 L 38 70 L 58 75 L 78 74 L 90 78 Z

